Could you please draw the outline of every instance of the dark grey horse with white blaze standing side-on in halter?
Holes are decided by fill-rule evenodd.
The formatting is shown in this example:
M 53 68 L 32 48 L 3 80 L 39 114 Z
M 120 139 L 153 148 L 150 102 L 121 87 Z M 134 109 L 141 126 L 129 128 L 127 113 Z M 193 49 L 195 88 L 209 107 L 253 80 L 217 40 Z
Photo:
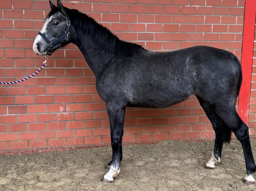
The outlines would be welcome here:
M 248 126 L 235 108 L 242 70 L 234 54 L 209 46 L 151 52 L 118 39 L 88 15 L 64 7 L 60 0 L 57 6 L 49 3 L 51 10 L 32 48 L 35 54 L 47 56 L 73 43 L 95 74 L 97 92 L 107 104 L 112 146 L 103 182 L 113 182 L 120 173 L 126 106 L 163 108 L 196 95 L 216 134 L 206 167 L 215 168 L 221 161 L 223 143 L 230 142 L 233 131 L 243 147 L 243 181 L 249 186 L 255 183 Z

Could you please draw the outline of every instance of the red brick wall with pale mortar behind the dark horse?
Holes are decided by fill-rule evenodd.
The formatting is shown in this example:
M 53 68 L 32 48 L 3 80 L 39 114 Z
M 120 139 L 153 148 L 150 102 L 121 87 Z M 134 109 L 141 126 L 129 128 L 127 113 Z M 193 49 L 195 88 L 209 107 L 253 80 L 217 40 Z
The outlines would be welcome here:
M 208 45 L 241 57 L 245 0 L 80 0 L 63 5 L 152 51 Z M 41 66 L 44 59 L 31 47 L 49 9 L 48 0 L 1 0 L 0 81 L 23 78 Z M 36 78 L 1 85 L 0 96 L 0 153 L 110 145 L 106 104 L 73 44 L 57 50 Z M 124 126 L 125 144 L 215 136 L 195 96 L 163 109 L 127 108 Z

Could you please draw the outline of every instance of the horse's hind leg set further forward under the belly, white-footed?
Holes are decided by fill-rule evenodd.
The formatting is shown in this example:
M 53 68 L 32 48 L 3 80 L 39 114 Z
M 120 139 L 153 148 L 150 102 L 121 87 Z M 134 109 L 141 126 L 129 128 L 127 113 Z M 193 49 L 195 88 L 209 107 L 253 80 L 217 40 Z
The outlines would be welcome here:
M 216 112 L 212 109 L 212 106 L 207 102 L 204 101 L 201 97 L 196 95 L 200 105 L 203 107 L 207 117 L 211 121 L 213 125 L 213 129 L 216 134 L 215 142 L 214 142 L 214 150 L 211 159 L 206 163 L 207 168 L 215 168 L 215 164 L 221 161 L 221 152 L 222 152 L 222 145 L 223 141 L 219 137 L 220 133 L 220 120 L 221 118 L 216 114 Z

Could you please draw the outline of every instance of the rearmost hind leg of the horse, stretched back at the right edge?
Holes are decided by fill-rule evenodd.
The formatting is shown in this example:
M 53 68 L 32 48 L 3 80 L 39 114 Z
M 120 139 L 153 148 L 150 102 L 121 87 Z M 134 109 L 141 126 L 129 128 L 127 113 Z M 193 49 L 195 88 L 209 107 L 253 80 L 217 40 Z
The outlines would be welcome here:
M 256 166 L 254 163 L 252 149 L 249 139 L 249 129 L 248 126 L 243 122 L 235 110 L 235 106 L 216 106 L 216 113 L 223 119 L 225 124 L 230 128 L 237 139 L 241 142 L 246 165 L 246 176 L 244 182 L 251 186 L 255 183 L 253 178 L 253 172 L 256 171 Z

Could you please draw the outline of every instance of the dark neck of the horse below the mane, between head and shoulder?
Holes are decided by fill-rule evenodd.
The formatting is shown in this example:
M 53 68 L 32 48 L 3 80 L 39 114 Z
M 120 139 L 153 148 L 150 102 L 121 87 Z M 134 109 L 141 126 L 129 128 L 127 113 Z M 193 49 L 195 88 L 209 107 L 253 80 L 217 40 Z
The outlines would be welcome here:
M 96 78 L 102 73 L 104 66 L 111 59 L 110 54 L 100 47 L 89 35 L 78 34 L 76 42 L 74 42 L 83 53 L 86 62 L 92 69 Z

